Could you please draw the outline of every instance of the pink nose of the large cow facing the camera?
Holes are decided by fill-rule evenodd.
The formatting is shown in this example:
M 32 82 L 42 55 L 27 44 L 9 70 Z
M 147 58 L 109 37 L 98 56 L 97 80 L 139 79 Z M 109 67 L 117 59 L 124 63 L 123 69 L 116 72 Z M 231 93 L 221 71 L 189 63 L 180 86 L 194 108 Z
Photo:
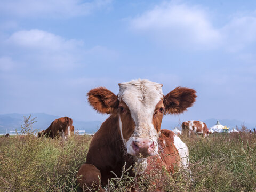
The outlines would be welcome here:
M 154 141 L 149 139 L 138 139 L 132 142 L 132 148 L 136 155 L 147 157 L 154 154 Z

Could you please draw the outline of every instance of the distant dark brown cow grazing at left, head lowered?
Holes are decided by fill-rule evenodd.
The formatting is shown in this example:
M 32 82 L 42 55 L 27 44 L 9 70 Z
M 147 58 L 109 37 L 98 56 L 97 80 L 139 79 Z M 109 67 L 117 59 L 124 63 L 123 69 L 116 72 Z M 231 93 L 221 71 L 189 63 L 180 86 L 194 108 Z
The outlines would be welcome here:
M 46 137 L 55 138 L 59 134 L 59 136 L 62 136 L 63 139 L 67 139 L 73 130 L 72 123 L 73 121 L 69 117 L 55 119 L 46 130 L 38 133 L 38 137 L 41 137 L 41 135 L 46 135 Z

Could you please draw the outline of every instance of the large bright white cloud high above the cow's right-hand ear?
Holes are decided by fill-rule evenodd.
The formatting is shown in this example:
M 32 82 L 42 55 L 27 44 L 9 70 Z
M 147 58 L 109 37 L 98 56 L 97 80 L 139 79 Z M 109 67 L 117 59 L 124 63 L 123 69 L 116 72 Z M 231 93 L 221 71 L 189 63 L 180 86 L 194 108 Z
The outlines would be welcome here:
M 215 46 L 221 35 L 202 7 L 164 3 L 131 20 L 131 27 L 167 45 Z

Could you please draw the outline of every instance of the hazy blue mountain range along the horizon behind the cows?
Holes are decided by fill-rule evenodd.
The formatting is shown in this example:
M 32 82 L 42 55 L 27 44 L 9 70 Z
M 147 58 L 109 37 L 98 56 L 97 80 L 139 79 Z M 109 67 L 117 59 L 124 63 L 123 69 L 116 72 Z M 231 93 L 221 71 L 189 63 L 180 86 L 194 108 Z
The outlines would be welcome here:
M 23 117 L 29 117 L 29 115 L 30 114 L 18 113 L 0 115 L 0 133 L 5 134 L 6 132 L 9 133 L 10 131 L 21 130 L 21 125 L 24 121 Z M 45 113 L 32 113 L 31 118 L 34 117 L 36 117 L 36 122 L 33 124 L 33 129 L 38 130 L 47 129 L 47 127 L 49 127 L 55 119 L 60 118 L 58 116 L 49 115 Z M 230 128 L 235 127 L 236 125 L 239 128 L 241 128 L 242 124 L 247 126 L 248 129 L 253 129 L 253 127 L 255 127 L 255 125 L 253 124 L 248 124 L 238 120 L 219 119 L 219 121 L 222 125 L 226 125 Z M 216 124 L 217 119 L 211 118 L 203 122 L 205 122 L 206 125 L 210 128 Z M 97 132 L 101 126 L 101 123 L 101 121 L 77 121 L 76 119 L 73 119 L 73 125 L 75 126 L 75 130 L 85 130 L 86 133 Z M 181 125 L 178 122 L 165 121 L 163 119 L 161 128 L 172 130 L 174 129 L 174 127 L 178 127 L 180 129 L 180 126 Z

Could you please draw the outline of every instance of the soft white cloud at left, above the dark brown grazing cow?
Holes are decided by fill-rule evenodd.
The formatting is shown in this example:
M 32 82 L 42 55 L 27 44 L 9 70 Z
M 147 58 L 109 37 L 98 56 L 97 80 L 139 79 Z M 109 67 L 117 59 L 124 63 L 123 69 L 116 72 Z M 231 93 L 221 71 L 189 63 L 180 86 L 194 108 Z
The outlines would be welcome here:
M 11 57 L 14 55 L 18 58 L 19 63 L 22 63 L 19 65 L 44 70 L 84 68 L 102 60 L 113 61 L 118 56 L 114 50 L 107 47 L 99 45 L 88 49 L 85 48 L 83 41 L 65 39 L 38 29 L 17 31 L 0 42 L 0 47 L 4 50 L 3 55 L 9 55 L 11 52 Z

